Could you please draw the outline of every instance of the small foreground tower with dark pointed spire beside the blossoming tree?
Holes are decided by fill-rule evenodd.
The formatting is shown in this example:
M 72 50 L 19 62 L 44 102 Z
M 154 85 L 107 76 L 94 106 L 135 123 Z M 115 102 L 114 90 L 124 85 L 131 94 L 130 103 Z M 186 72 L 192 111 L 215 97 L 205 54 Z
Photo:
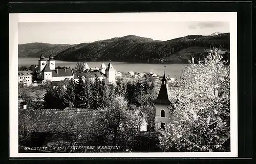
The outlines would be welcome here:
M 158 93 L 157 99 L 154 101 L 156 107 L 156 125 L 160 124 L 161 128 L 165 128 L 166 123 L 172 121 L 172 115 L 169 115 L 170 101 L 168 98 L 167 91 L 167 80 L 165 77 L 165 66 L 164 66 L 164 74 L 161 80 L 161 87 Z M 157 128 L 156 128 L 157 130 Z

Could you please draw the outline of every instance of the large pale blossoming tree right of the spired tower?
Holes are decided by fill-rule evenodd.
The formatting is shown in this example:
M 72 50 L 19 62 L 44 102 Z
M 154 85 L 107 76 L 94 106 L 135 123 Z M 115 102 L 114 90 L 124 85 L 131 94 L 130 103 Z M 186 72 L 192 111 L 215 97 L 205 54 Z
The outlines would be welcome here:
M 164 151 L 227 151 L 230 138 L 229 65 L 214 49 L 199 64 L 192 59 L 172 89 L 172 121 L 160 130 Z

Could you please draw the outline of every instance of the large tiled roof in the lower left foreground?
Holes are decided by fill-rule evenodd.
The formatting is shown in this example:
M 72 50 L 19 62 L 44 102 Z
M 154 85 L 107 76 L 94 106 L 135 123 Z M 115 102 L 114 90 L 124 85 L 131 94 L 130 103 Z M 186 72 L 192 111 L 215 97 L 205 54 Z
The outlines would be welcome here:
M 92 111 L 22 109 L 18 111 L 18 129 L 34 132 L 86 132 L 92 119 Z

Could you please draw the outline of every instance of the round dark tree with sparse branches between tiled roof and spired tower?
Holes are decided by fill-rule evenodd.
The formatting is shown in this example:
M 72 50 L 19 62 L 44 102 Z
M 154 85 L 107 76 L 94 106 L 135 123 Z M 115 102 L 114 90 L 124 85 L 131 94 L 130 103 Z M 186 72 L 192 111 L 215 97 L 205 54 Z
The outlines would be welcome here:
M 118 145 L 123 150 L 131 149 L 142 124 L 139 112 L 129 110 L 124 97 L 115 97 L 107 107 L 95 112 L 91 131 L 95 142 L 99 145 Z

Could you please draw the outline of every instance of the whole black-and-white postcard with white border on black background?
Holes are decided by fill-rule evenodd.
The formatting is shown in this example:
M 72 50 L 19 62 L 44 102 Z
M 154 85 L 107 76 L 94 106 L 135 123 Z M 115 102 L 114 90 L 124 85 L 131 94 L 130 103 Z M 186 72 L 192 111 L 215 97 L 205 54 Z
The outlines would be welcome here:
M 236 21 L 10 14 L 10 153 L 237 156 Z

